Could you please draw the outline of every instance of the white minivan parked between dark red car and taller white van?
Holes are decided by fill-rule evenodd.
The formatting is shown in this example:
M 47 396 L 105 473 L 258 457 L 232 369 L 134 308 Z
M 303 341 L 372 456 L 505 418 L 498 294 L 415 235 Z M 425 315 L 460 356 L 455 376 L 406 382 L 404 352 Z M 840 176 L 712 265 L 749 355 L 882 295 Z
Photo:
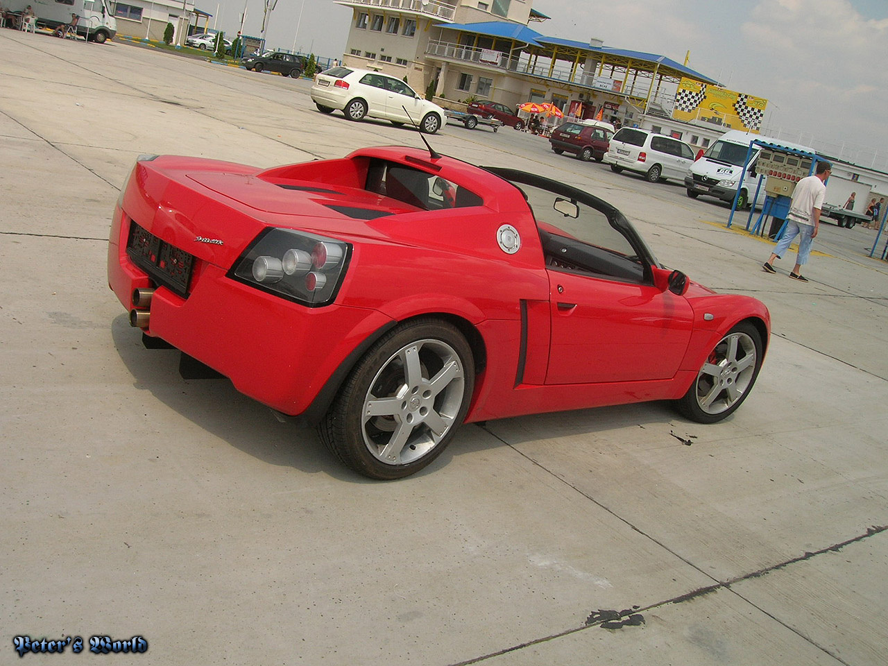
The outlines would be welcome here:
M 684 183 L 694 163 L 694 150 L 678 139 L 623 127 L 610 140 L 604 161 L 615 173 L 628 169 L 644 174 L 652 183 L 667 178 Z

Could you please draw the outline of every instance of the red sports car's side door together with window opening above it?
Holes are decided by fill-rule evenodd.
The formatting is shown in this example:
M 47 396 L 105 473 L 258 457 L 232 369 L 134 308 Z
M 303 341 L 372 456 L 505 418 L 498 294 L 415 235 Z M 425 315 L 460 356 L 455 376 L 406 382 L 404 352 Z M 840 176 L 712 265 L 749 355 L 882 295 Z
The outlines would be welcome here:
M 551 204 L 532 205 L 538 220 L 551 216 Z M 579 197 L 576 205 L 576 218 L 541 225 L 551 294 L 545 383 L 674 377 L 693 329 L 691 306 L 654 285 L 640 241 L 618 218 Z

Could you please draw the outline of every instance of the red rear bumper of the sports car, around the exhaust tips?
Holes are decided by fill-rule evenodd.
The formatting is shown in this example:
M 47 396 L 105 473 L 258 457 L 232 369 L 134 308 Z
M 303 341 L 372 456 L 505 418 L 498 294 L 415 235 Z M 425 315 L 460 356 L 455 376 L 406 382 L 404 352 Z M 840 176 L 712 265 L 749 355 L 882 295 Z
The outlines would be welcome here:
M 108 243 L 108 285 L 130 311 L 133 289 L 155 284 L 126 252 L 129 221 L 115 210 Z M 309 408 L 356 347 L 392 320 L 376 310 L 310 308 L 230 280 L 194 260 L 190 293 L 157 287 L 147 333 L 231 379 L 238 391 L 284 414 Z

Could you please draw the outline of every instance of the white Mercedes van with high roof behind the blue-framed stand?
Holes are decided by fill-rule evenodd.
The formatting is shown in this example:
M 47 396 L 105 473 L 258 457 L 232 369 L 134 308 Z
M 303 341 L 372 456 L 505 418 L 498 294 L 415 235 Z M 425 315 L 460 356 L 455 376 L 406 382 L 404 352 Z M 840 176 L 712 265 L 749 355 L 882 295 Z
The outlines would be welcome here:
M 723 202 L 733 203 L 733 197 L 737 194 L 741 170 L 743 170 L 743 164 L 746 163 L 749 144 L 756 140 L 803 150 L 807 153 L 815 152 L 813 148 L 799 146 L 781 139 L 763 137 L 761 134 L 740 130 L 726 132 L 687 171 L 685 176 L 687 195 L 694 199 L 701 194 L 706 194 L 721 199 Z M 760 146 L 753 147 L 752 159 L 749 161 L 747 172 L 743 174 L 743 186 L 740 198 L 737 200 L 738 209 L 749 206 L 749 197 L 756 193 L 758 186 L 756 159 L 760 152 Z M 765 184 L 762 183 L 758 190 L 757 206 L 762 206 L 765 203 L 765 196 Z

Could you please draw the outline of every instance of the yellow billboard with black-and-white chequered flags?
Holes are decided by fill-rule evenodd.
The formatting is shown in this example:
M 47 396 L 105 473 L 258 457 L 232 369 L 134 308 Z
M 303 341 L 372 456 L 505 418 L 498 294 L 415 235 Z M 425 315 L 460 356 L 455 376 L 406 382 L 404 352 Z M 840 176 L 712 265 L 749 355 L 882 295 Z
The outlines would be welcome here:
M 675 93 L 672 117 L 682 121 L 702 120 L 731 130 L 757 132 L 767 104 L 767 99 L 693 79 L 682 79 Z

